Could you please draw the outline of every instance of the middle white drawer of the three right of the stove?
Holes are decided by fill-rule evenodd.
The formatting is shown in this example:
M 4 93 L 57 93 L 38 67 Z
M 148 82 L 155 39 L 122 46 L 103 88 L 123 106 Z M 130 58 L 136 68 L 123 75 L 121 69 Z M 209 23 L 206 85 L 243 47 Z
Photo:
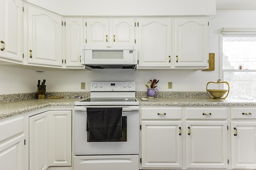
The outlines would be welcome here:
M 186 108 L 186 119 L 227 119 L 227 108 Z

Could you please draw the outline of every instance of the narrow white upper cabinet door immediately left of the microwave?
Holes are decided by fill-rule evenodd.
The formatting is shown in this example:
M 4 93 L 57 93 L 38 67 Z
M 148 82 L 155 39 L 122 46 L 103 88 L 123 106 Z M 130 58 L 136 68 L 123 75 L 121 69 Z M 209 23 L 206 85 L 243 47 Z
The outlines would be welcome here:
M 82 19 L 66 19 L 66 66 L 83 67 L 81 64 L 82 50 Z

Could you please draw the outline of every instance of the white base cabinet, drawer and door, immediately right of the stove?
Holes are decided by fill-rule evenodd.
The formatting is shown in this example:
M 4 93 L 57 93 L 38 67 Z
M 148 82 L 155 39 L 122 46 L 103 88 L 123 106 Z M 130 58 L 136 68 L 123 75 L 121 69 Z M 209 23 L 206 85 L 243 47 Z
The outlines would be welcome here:
M 142 107 L 141 168 L 182 168 L 182 109 Z

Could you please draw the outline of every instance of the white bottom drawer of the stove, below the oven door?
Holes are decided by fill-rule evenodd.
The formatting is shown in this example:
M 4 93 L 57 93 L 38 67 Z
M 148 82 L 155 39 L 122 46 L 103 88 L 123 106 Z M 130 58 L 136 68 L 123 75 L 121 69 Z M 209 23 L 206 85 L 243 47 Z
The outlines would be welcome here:
M 138 170 L 138 155 L 74 156 L 75 170 Z

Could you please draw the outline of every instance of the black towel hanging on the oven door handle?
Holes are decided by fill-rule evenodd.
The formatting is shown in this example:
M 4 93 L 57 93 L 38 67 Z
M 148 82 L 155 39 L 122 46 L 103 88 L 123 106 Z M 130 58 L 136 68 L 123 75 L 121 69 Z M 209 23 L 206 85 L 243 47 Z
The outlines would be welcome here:
M 88 142 L 117 141 L 122 138 L 122 107 L 87 107 Z

